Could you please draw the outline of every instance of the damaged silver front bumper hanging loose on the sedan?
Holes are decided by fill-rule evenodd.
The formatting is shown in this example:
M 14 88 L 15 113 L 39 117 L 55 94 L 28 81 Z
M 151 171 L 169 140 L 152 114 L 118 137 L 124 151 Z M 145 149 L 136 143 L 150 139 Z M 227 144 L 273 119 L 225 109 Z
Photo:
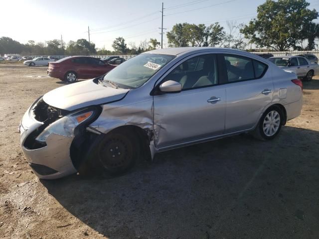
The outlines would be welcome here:
M 74 136 L 50 133 L 45 144 L 35 137 L 45 128 L 44 122 L 34 118 L 33 104 L 24 114 L 20 125 L 20 145 L 30 167 L 40 179 L 56 179 L 77 172 L 70 157 Z

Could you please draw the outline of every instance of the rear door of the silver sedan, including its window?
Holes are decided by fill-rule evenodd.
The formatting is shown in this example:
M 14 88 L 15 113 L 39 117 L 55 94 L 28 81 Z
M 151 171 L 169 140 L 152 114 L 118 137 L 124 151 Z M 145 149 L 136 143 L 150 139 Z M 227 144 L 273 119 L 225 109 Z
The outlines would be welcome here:
M 225 133 L 251 129 L 271 101 L 273 80 L 267 64 L 233 54 L 223 55 L 226 83 Z

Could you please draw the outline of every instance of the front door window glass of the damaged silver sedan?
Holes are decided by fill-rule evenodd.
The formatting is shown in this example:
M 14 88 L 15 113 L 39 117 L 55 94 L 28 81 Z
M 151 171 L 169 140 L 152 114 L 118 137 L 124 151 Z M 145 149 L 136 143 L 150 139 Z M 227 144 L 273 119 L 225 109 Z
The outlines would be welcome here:
M 195 56 L 182 62 L 164 79 L 169 80 L 179 82 L 182 90 L 218 84 L 216 55 Z

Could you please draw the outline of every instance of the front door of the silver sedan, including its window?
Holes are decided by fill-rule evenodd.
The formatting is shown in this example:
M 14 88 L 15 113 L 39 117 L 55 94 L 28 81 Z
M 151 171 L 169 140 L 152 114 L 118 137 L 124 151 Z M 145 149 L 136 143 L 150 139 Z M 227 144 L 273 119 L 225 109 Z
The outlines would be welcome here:
M 155 145 L 169 148 L 224 133 L 226 91 L 218 85 L 214 54 L 199 55 L 174 68 L 161 83 L 182 85 L 179 93 L 154 96 Z

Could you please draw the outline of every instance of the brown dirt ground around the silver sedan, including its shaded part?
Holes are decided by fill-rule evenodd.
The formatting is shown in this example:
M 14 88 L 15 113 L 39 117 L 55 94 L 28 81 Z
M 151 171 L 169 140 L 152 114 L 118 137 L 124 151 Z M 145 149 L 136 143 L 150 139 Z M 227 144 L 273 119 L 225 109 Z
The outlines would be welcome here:
M 40 181 L 18 124 L 64 84 L 46 67 L 0 64 L 0 238 L 319 238 L 319 77 L 273 141 L 239 135 L 160 153 L 113 179 Z

